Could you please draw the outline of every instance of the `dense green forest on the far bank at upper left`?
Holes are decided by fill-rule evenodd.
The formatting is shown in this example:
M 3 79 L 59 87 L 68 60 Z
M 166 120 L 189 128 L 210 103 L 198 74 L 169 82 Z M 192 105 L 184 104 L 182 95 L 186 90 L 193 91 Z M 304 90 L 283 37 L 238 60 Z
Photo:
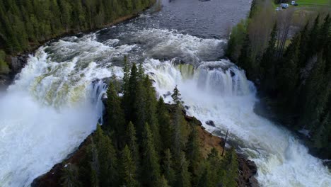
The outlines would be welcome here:
M 0 0 L 0 48 L 29 49 L 69 32 L 100 28 L 155 0 Z

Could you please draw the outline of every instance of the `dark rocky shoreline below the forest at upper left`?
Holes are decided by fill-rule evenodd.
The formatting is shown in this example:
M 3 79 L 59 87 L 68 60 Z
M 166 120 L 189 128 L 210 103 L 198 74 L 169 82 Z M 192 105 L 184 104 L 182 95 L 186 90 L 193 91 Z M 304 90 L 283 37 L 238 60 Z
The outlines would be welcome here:
M 18 52 L 16 55 L 6 55 L 6 62 L 8 64 L 8 67 L 10 71 L 6 74 L 1 74 L 0 73 L 0 91 L 3 91 L 7 88 L 7 86 L 11 85 L 13 83 L 13 80 L 16 77 L 16 74 L 19 74 L 21 72 L 21 69 L 25 67 L 25 64 L 28 62 L 28 57 L 29 55 L 33 55 L 35 50 L 37 50 L 39 47 L 42 45 L 45 45 L 50 42 L 54 42 L 54 40 L 59 40 L 60 38 L 64 38 L 67 36 L 72 36 L 72 35 L 77 35 L 79 33 L 86 34 L 86 33 L 91 33 L 96 30 L 100 30 L 102 28 L 108 28 L 111 26 L 115 26 L 119 23 L 122 23 L 124 21 L 129 21 L 132 18 L 136 18 L 139 16 L 139 14 L 143 11 L 146 11 L 146 9 L 149 9 L 155 5 L 156 1 L 152 1 L 152 3 L 144 8 L 143 10 L 137 12 L 137 13 L 130 13 L 127 16 L 121 16 L 120 18 L 116 18 L 114 21 L 111 23 L 105 24 L 101 27 L 98 28 L 93 28 L 93 29 L 88 29 L 88 30 L 69 30 L 68 32 L 62 33 L 60 35 L 55 36 L 54 38 L 49 38 L 45 41 L 39 42 L 39 43 L 30 43 L 29 50 L 25 52 Z M 158 11 L 158 9 L 156 9 Z M 1 48 L 0 48 L 1 50 Z

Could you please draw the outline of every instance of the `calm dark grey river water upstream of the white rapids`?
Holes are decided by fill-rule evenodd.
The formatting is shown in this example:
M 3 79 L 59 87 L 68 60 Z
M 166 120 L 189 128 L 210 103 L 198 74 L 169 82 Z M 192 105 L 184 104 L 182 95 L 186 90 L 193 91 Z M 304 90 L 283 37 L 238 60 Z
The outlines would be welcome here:
M 251 4 L 250 0 L 161 1 L 161 11 L 151 13 L 151 8 L 139 18 L 122 23 L 126 26 L 117 28 L 115 33 L 122 33 L 121 29 L 127 32 L 129 28 L 161 28 L 178 30 L 198 38 L 225 38 L 231 27 L 247 16 Z M 114 33 L 114 30 L 108 31 Z M 103 32 L 107 33 L 105 30 Z

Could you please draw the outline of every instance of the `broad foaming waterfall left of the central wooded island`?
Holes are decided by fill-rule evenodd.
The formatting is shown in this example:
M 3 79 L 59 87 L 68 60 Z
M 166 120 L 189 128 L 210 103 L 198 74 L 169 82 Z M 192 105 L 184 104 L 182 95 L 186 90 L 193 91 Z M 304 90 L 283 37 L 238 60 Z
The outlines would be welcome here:
M 0 186 L 29 186 L 102 122 L 106 85 L 101 79 L 122 72 L 97 63 L 95 55 L 115 56 L 127 46 L 115 49 L 93 43 L 93 36 L 40 47 L 1 95 Z M 88 42 L 88 48 L 81 49 Z M 73 49 L 76 55 L 64 55 Z

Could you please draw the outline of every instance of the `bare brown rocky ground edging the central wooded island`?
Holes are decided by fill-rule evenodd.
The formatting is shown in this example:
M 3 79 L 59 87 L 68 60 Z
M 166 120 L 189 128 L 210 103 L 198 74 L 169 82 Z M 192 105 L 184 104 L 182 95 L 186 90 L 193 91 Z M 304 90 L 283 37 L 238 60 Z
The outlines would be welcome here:
M 168 109 L 171 110 L 171 109 Z M 197 120 L 197 118 L 190 117 L 183 113 L 185 120 L 192 127 L 197 128 L 197 132 L 199 135 L 199 145 L 202 150 L 202 155 L 204 159 L 207 158 L 209 152 L 212 148 L 216 148 L 220 153 L 223 152 L 223 143 L 224 140 L 221 137 L 216 137 L 211 133 L 207 132 L 202 126 L 202 123 Z M 61 186 L 61 176 L 63 174 L 63 169 L 69 164 L 73 164 L 79 166 L 82 162 L 85 162 L 86 153 L 88 152 L 88 147 L 92 143 L 92 139 L 95 133 L 93 132 L 91 135 L 86 137 L 86 139 L 81 143 L 81 145 L 76 149 L 76 151 L 72 154 L 69 154 L 63 162 L 59 164 L 55 164 L 50 171 L 42 176 L 39 176 L 37 179 L 33 181 L 31 184 L 32 187 L 57 187 Z M 226 154 L 225 150 L 225 154 Z M 255 175 L 257 174 L 257 166 L 254 162 L 248 160 L 245 155 L 238 154 L 238 171 L 239 176 L 237 179 L 238 186 L 240 187 L 257 187 L 259 186 Z

